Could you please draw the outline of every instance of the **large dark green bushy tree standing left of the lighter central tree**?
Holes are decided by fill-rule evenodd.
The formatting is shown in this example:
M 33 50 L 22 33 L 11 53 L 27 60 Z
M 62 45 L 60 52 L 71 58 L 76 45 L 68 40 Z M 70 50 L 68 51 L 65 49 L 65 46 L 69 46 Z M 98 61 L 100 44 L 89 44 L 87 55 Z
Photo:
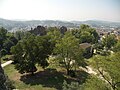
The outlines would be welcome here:
M 37 71 L 36 64 L 43 68 L 47 67 L 48 56 L 51 54 L 51 43 L 47 36 L 30 35 L 19 41 L 11 48 L 14 55 L 15 67 L 20 73 L 31 73 Z

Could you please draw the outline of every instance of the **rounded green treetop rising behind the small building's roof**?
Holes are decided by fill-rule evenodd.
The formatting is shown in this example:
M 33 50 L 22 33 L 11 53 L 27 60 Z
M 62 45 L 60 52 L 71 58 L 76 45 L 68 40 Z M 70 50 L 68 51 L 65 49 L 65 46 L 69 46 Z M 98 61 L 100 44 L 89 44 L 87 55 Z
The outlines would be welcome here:
M 79 39 L 79 43 L 97 43 L 99 36 L 94 28 L 89 25 L 82 24 L 79 30 L 73 30 L 73 35 Z

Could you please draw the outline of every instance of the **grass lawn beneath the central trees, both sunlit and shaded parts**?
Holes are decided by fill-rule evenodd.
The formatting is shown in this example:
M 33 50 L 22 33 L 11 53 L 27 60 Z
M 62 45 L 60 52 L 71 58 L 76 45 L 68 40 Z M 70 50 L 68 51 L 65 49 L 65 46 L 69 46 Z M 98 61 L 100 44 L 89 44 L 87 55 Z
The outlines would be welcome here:
M 46 70 L 38 68 L 34 76 L 29 74 L 20 74 L 14 68 L 13 64 L 4 67 L 5 74 L 14 82 L 14 86 L 20 90 L 62 90 L 63 82 L 66 80 L 70 82 L 84 83 L 87 73 L 83 71 L 78 72 L 78 77 L 72 78 L 66 75 L 64 68 Z

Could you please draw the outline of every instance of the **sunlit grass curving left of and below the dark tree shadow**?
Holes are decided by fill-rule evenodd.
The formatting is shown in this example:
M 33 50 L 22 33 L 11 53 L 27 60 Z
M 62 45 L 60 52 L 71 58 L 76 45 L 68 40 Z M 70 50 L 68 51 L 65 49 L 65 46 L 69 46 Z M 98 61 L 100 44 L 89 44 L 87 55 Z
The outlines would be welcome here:
M 33 80 L 33 78 L 27 78 L 26 81 L 24 81 L 24 79 L 21 80 L 21 78 L 23 78 L 24 75 L 22 76 L 20 73 L 18 73 L 16 69 L 14 68 L 13 64 L 6 66 L 4 68 L 4 72 L 9 77 L 9 79 L 14 82 L 14 86 L 17 89 L 20 89 L 20 90 L 56 90 L 55 88 L 52 88 L 52 87 L 44 87 L 42 84 L 36 84 L 36 85 L 31 84 L 31 83 L 38 83 L 38 80 L 40 78 L 39 79 L 36 78 L 36 81 L 35 81 L 35 78 L 33 77 L 34 82 L 30 81 L 30 80 Z M 29 83 L 27 83 L 28 80 L 30 81 Z

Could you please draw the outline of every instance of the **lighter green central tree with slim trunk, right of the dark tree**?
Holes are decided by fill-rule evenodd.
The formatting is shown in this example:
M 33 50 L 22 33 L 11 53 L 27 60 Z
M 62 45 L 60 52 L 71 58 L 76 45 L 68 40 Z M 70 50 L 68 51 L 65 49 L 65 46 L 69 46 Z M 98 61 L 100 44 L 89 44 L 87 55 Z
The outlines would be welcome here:
M 70 75 L 70 71 L 74 67 L 74 64 L 76 65 L 83 60 L 79 41 L 71 32 L 66 32 L 64 37 L 57 42 L 55 52 L 62 58 L 68 75 Z

